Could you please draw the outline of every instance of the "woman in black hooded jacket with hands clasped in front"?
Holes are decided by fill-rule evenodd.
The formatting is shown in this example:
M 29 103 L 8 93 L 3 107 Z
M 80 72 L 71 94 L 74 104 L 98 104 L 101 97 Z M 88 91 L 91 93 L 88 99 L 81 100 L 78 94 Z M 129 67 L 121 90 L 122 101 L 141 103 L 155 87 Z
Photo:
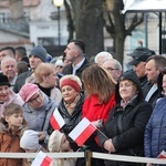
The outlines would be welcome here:
M 144 132 L 152 106 L 144 101 L 135 72 L 124 73 L 115 86 L 116 106 L 100 129 L 100 145 L 111 154 L 144 156 Z M 105 166 L 137 166 L 141 164 L 105 160 Z

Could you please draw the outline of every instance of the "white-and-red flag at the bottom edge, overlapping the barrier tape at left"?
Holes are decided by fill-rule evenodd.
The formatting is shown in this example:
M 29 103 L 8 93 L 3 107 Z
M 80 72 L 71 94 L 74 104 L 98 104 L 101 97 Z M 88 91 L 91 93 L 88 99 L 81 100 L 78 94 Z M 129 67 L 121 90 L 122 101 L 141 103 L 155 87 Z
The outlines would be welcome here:
M 53 160 L 52 158 L 50 158 L 49 156 L 46 156 L 46 154 L 44 154 L 43 152 L 40 151 L 37 154 L 31 166 L 50 166 L 52 160 Z

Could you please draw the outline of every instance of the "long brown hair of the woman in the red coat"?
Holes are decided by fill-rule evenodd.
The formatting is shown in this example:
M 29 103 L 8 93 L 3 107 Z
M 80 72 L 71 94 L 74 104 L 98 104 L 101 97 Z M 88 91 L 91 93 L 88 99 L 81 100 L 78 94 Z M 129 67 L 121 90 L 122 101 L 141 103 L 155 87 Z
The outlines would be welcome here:
M 106 103 L 115 91 L 111 75 L 97 64 L 92 64 L 82 73 L 82 81 L 87 96 L 97 95 L 100 103 Z

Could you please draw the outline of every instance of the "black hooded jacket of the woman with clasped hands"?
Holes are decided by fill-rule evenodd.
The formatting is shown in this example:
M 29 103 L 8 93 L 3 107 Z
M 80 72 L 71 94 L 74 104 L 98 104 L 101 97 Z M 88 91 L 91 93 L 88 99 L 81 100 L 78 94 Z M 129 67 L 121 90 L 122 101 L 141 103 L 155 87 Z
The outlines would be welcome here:
M 142 87 L 134 72 L 124 73 L 120 80 L 133 81 L 137 85 L 138 94 L 123 108 L 120 104 L 122 98 L 118 93 L 118 82 L 116 85 L 117 105 L 111 111 L 108 120 L 101 131 L 112 138 L 116 149 L 115 154 L 143 156 L 144 131 L 152 113 L 152 106 L 143 100 Z M 103 147 L 107 138 L 98 134 L 98 139 Z M 105 160 L 105 166 L 110 165 L 129 166 L 129 163 Z

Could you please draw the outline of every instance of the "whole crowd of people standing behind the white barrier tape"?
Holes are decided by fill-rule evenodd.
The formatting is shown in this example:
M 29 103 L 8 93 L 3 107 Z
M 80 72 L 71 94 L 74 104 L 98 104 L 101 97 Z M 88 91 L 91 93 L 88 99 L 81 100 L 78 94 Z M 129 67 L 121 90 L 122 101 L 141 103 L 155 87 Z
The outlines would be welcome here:
M 90 62 L 85 43 L 72 40 L 54 64 L 42 45 L 0 50 L 0 152 L 92 152 L 157 158 L 166 151 L 166 56 L 138 46 L 133 69 L 108 52 Z M 51 123 L 58 112 L 62 127 Z M 80 146 L 70 137 L 86 117 L 97 129 Z M 0 158 L 30 166 L 34 158 Z M 51 166 L 85 166 L 85 158 L 53 159 Z M 92 166 L 144 164 L 91 159 Z M 152 163 L 145 164 L 152 166 Z M 157 165 L 158 166 L 158 165 Z

